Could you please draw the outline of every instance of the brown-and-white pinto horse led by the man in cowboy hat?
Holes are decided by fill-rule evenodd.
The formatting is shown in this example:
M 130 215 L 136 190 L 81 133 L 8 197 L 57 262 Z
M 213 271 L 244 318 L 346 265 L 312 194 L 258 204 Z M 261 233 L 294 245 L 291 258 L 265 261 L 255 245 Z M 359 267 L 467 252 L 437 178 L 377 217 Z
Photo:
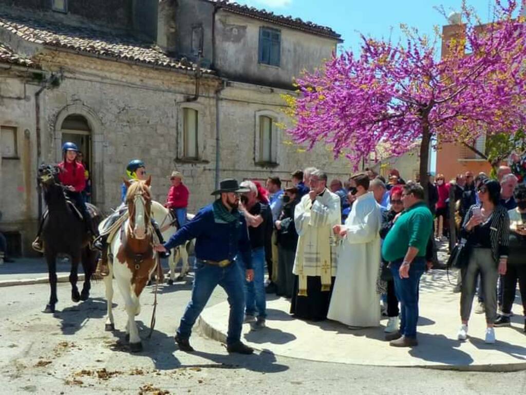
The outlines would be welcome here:
M 128 323 L 126 336 L 130 350 L 143 349 L 135 316 L 140 312 L 140 293 L 157 267 L 157 253 L 153 249 L 154 230 L 150 224 L 151 215 L 151 176 L 147 181 L 124 181 L 128 187 L 126 204 L 128 219 L 120 226 L 110 244 L 109 275 L 104 277 L 106 285 L 107 317 L 106 330 L 115 330 L 112 311 L 113 276 L 123 296 Z

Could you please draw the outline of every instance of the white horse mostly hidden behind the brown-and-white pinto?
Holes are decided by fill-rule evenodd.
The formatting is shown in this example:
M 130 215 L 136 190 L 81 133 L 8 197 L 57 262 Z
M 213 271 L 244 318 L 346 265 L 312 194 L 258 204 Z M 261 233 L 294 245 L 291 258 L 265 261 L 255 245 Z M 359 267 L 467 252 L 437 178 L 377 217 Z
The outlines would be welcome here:
M 159 224 L 159 229 L 163 234 L 163 239 L 168 241 L 168 239 L 177 232 L 175 226 L 175 218 L 171 215 L 171 211 L 168 210 L 164 205 L 152 201 L 151 202 L 151 216 Z M 189 219 L 194 218 L 194 215 L 188 215 Z M 168 279 L 168 284 L 173 284 L 174 281 L 181 281 L 189 272 L 188 266 L 188 252 L 191 247 L 191 242 L 186 242 L 184 245 L 180 245 L 172 251 L 171 255 L 168 258 L 168 266 L 170 267 L 170 277 Z M 175 266 L 179 259 L 183 259 L 183 266 L 181 266 L 181 272 L 179 276 L 175 277 Z

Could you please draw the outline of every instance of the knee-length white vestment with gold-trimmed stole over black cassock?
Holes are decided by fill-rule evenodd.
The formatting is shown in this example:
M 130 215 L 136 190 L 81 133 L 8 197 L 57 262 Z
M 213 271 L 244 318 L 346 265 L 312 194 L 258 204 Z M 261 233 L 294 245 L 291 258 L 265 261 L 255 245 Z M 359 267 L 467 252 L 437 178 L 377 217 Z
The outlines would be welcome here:
M 307 296 L 307 276 L 320 276 L 321 290 L 329 291 L 331 276 L 336 275 L 336 249 L 331 248 L 329 237 L 339 223 L 340 197 L 328 189 L 313 203 L 307 194 L 296 205 L 294 224 L 299 238 L 292 272 L 299 276 L 299 295 Z

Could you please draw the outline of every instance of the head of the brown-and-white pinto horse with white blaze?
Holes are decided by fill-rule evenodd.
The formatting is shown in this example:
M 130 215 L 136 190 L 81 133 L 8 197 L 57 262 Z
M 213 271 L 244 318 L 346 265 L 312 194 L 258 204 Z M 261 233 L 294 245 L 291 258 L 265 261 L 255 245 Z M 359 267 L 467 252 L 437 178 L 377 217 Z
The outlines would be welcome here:
M 133 238 L 142 240 L 148 234 L 147 230 L 150 223 L 151 176 L 146 181 L 136 180 L 130 182 L 124 180 L 124 183 L 128 187 L 126 204 L 128 205 L 129 230 Z

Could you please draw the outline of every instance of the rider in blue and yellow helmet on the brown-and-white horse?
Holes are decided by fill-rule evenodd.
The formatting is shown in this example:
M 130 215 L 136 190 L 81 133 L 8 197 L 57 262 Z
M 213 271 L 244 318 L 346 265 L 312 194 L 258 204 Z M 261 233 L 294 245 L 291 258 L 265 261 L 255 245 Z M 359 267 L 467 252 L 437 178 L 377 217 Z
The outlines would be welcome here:
M 131 160 L 128 165 L 126 166 L 126 174 L 128 176 L 128 179 L 130 181 L 136 181 L 136 180 L 146 180 L 146 168 L 144 165 L 144 162 L 139 159 Z M 102 235 L 97 239 L 95 242 L 95 247 L 102 251 L 102 257 L 99 261 L 99 272 L 100 275 L 108 275 L 109 274 L 109 268 L 108 268 L 108 236 L 109 233 L 107 233 L 107 230 L 112 227 L 112 225 L 117 222 L 117 220 L 123 216 L 128 208 L 126 206 L 126 192 L 128 191 L 128 188 L 125 183 L 122 184 L 121 190 L 120 190 L 120 197 L 122 199 L 122 204 L 119 206 L 119 208 L 108 217 L 106 222 L 104 223 L 104 230 L 102 231 Z M 151 225 L 153 226 L 155 233 L 157 234 L 157 238 L 161 241 L 163 239 L 163 235 L 161 234 L 159 230 L 159 225 L 153 218 L 150 218 Z M 160 253 L 159 254 L 161 258 L 167 258 L 170 256 L 170 253 Z

